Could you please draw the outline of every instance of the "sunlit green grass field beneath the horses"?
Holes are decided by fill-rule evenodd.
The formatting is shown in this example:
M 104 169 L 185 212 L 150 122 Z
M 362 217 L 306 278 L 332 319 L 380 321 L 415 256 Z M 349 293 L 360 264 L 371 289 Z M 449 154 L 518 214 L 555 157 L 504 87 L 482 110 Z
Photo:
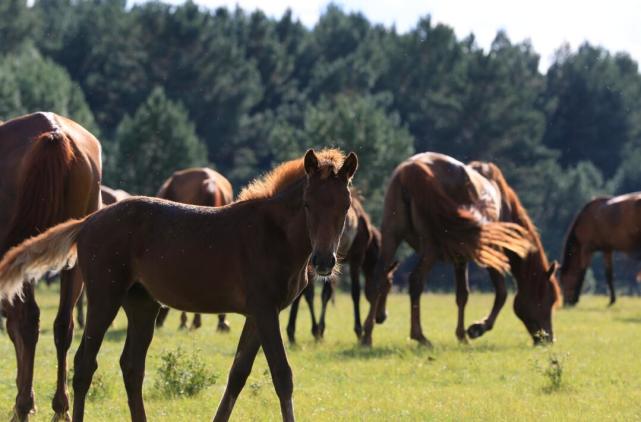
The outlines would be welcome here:
M 52 416 L 55 381 L 52 323 L 57 292 L 39 287 L 41 336 L 36 358 L 36 421 Z M 472 294 L 468 323 L 490 309 L 492 296 Z M 299 345 L 288 346 L 294 371 L 294 403 L 299 420 L 640 420 L 641 299 L 621 298 L 606 308 L 604 297 L 584 297 L 575 309 L 555 317 L 557 342 L 534 348 L 522 324 L 506 306 L 493 332 L 470 345 L 454 337 L 453 295 L 423 296 L 423 327 L 435 344 L 426 350 L 409 340 L 409 299 L 393 295 L 389 318 L 374 331 L 374 347 L 356 345 L 351 300 L 338 295 L 328 311 L 326 339 L 309 333 L 301 304 Z M 284 326 L 288 312 L 281 316 Z M 242 318 L 231 316 L 232 333 L 215 332 L 215 316 L 205 316 L 197 332 L 178 331 L 178 312 L 156 332 L 147 360 L 145 400 L 151 421 L 211 420 L 222 396 Z M 88 401 L 89 421 L 127 420 L 126 394 L 118 359 L 126 320 L 119 315 L 98 357 L 100 394 Z M 76 331 L 70 362 L 78 345 Z M 155 388 L 160 356 L 182 347 L 196 350 L 217 382 L 195 397 L 168 399 Z M 0 333 L 0 419 L 15 396 L 13 346 Z M 559 362 L 555 364 L 554 362 Z M 559 380 L 560 377 L 560 380 Z M 274 393 L 262 352 L 232 419 L 278 420 Z

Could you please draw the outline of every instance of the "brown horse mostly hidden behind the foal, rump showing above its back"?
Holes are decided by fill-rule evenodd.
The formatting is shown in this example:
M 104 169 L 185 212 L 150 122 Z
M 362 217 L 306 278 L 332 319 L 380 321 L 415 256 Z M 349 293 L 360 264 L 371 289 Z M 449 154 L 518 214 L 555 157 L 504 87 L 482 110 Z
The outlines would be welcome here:
M 229 180 L 222 174 L 206 167 L 191 168 L 175 172 L 163 183 L 156 194 L 158 198 L 168 199 L 190 205 L 222 207 L 234 200 L 234 190 Z M 158 312 L 156 327 L 162 327 L 169 314 L 169 308 L 162 307 Z M 194 315 L 191 328 L 200 328 L 201 315 Z M 187 314 L 180 315 L 180 328 L 187 328 Z M 225 315 L 218 315 L 218 331 L 229 331 Z

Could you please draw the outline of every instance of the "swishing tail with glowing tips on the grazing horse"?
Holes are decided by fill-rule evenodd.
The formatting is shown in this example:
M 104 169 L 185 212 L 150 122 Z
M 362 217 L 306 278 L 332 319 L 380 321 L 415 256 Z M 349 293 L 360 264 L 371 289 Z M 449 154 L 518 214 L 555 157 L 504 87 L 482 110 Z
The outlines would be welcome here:
M 505 250 L 526 256 L 533 244 L 527 230 L 515 223 L 486 223 L 473 210 L 454 201 L 426 164 L 414 161 L 400 174 L 410 193 L 410 217 L 432 236 L 432 241 L 450 260 L 473 260 L 502 273 L 510 270 Z M 421 218 L 427 215 L 428 219 Z

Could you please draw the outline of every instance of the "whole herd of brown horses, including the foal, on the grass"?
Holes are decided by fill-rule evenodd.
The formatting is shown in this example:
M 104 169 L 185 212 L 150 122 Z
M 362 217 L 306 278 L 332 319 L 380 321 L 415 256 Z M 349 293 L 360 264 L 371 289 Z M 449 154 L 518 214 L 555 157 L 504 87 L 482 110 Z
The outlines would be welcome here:
M 367 163 L 360 163 L 361 166 Z M 400 163 L 384 199 L 380 232 L 351 188 L 359 162 L 335 149 L 309 150 L 245 187 L 233 200 L 231 184 L 210 169 L 175 173 L 158 198 L 129 197 L 103 187 L 99 141 L 77 123 L 34 113 L 0 124 L 0 299 L 17 356 L 16 420 L 35 409 L 33 367 L 39 309 L 33 282 L 60 271 L 54 322 L 57 387 L 54 420 L 69 420 L 66 355 L 73 335 L 72 309 L 83 290 L 87 315 L 74 360 L 73 420 L 83 420 L 85 398 L 104 334 L 122 307 L 128 319 L 120 359 L 131 418 L 146 420 L 142 397 L 145 358 L 154 328 L 168 307 L 246 316 L 227 387 L 215 420 L 229 419 L 263 348 L 284 420 L 294 420 L 292 371 L 278 315 L 292 305 L 287 335 L 295 341 L 301 297 L 323 285 L 312 333 L 322 337 L 337 261 L 350 266 L 354 331 L 372 344 L 374 323 L 386 318 L 394 257 L 402 242 L 419 255 L 409 277 L 410 336 L 429 345 L 421 327 L 423 280 L 437 261 L 453 265 L 461 342 L 492 329 L 505 304 L 506 273 L 517 285 L 514 311 L 537 342 L 552 341 L 553 310 L 562 302 L 556 263 L 501 170 L 489 162 L 463 164 L 426 152 Z M 160 199 L 159 199 L 160 198 Z M 561 266 L 566 302 L 576 303 L 591 255 L 604 252 L 612 286 L 612 251 L 635 253 L 641 195 L 599 198 L 576 216 Z M 486 267 L 495 289 L 488 316 L 465 326 L 468 262 Z M 205 265 L 206 263 L 206 265 Z M 369 311 L 360 317 L 361 271 Z M 166 306 L 161 306 L 161 304 Z

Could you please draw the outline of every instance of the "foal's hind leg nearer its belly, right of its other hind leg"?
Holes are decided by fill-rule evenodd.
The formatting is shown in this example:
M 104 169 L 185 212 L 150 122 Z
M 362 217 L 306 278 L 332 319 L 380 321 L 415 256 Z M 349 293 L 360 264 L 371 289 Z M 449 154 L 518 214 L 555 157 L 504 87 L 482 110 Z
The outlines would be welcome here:
M 125 298 L 127 339 L 120 357 L 120 368 L 127 390 L 132 421 L 145 421 L 142 384 L 145 378 L 145 359 L 154 335 L 160 304 L 141 285 L 134 285 Z

